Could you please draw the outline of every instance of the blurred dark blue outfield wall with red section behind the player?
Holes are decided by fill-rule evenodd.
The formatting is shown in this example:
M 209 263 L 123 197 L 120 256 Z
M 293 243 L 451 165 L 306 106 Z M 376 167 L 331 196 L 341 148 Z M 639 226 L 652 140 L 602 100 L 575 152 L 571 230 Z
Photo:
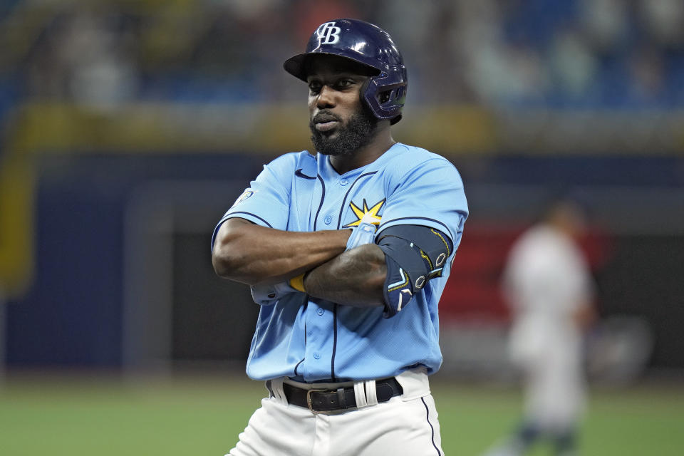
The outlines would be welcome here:
M 257 306 L 246 286 L 214 276 L 209 239 L 274 156 L 42 157 L 33 280 L 6 309 L 9 368 L 241 366 Z M 452 162 L 472 215 L 440 304 L 445 369 L 484 372 L 499 360 L 505 253 L 559 190 L 590 209 L 585 247 L 601 316 L 642 317 L 654 337 L 648 366 L 684 368 L 684 159 L 463 155 Z M 478 354 L 477 335 L 487 333 L 493 348 Z

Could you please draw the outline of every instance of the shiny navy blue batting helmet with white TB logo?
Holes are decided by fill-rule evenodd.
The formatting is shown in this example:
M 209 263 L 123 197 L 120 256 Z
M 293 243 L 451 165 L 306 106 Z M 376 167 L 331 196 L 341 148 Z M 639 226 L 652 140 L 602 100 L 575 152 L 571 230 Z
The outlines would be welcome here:
M 394 125 L 401 119 L 408 77 L 399 49 L 390 35 L 378 26 L 358 19 L 324 22 L 309 38 L 306 52 L 288 58 L 285 71 L 306 82 L 307 59 L 316 54 L 349 58 L 374 68 L 361 89 L 361 98 L 378 119 Z

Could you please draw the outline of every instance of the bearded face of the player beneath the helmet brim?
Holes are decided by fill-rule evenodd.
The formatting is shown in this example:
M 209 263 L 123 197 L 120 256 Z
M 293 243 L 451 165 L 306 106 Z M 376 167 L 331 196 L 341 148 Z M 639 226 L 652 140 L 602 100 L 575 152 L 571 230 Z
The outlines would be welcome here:
M 368 70 L 346 58 L 318 56 L 309 77 L 311 141 L 326 155 L 351 155 L 373 139 L 378 121 L 361 103 Z

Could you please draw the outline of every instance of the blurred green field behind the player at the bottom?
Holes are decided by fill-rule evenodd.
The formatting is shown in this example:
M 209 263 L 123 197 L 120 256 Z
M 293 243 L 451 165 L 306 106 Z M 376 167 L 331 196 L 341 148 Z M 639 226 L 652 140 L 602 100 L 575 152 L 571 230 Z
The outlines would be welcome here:
M 513 388 L 442 379 L 432 390 L 447 455 L 480 455 L 516 421 L 520 397 Z M 264 391 L 259 382 L 230 375 L 11 377 L 0 383 L 0 455 L 222 456 Z M 684 385 L 593 390 L 582 432 L 583 455 L 684 455 Z

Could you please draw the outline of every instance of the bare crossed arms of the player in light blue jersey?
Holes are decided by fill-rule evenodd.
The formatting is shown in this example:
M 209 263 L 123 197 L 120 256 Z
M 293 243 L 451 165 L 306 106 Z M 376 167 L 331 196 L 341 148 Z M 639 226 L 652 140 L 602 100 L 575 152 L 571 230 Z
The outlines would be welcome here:
M 232 218 L 219 227 L 212 264 L 224 279 L 255 285 L 306 271 L 309 296 L 348 306 L 383 306 L 385 254 L 375 244 L 345 251 L 351 229 L 286 232 Z

